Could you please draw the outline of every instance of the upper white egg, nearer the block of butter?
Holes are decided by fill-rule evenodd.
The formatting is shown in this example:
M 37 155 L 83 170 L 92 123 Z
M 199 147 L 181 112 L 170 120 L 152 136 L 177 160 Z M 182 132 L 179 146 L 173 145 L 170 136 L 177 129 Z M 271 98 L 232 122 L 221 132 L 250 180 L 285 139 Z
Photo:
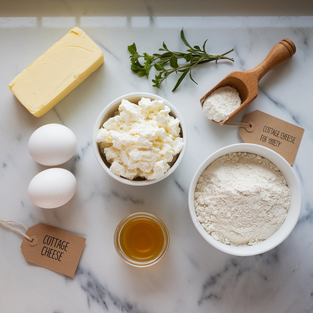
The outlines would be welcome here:
M 32 158 L 46 166 L 67 162 L 75 153 L 77 140 L 74 133 L 61 124 L 47 124 L 36 129 L 28 141 Z

